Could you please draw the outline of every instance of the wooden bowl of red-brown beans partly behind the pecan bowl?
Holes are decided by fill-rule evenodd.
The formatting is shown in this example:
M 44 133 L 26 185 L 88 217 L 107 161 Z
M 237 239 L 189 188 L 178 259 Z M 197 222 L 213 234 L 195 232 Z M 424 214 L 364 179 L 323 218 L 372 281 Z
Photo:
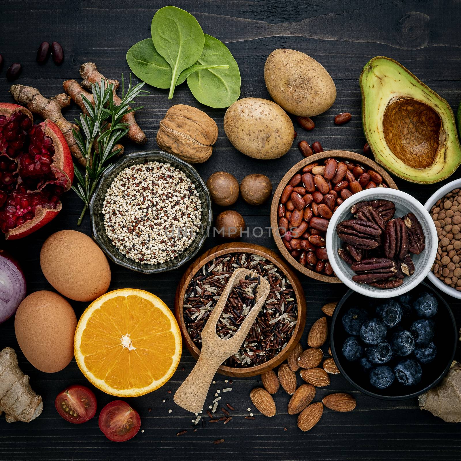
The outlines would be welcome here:
M 323 282 L 340 283 L 326 253 L 332 214 L 363 189 L 397 189 L 373 160 L 343 150 L 310 155 L 282 178 L 271 207 L 272 235 L 284 258 L 298 271 Z

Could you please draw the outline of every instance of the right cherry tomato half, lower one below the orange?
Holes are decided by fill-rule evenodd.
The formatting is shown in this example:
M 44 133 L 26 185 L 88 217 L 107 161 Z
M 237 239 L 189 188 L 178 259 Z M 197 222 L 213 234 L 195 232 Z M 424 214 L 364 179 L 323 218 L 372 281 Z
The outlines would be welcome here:
M 99 415 L 99 428 L 112 442 L 125 442 L 134 437 L 141 427 L 136 410 L 123 400 L 108 403 Z

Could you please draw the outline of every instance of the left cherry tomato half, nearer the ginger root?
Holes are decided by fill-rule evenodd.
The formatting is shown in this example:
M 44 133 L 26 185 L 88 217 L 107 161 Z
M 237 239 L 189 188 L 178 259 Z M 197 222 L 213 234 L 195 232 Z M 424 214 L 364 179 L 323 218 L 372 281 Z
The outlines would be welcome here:
M 95 416 L 96 396 L 88 387 L 74 384 L 58 394 L 54 406 L 66 421 L 82 424 Z

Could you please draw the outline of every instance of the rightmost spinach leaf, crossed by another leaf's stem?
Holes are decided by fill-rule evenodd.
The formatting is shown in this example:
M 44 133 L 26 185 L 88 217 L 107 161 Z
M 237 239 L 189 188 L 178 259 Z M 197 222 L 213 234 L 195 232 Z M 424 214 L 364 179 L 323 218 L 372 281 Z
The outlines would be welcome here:
M 206 106 L 222 108 L 240 96 L 240 71 L 229 49 L 222 41 L 205 34 L 205 44 L 198 65 L 228 65 L 227 69 L 210 68 L 193 72 L 187 84 L 195 99 Z

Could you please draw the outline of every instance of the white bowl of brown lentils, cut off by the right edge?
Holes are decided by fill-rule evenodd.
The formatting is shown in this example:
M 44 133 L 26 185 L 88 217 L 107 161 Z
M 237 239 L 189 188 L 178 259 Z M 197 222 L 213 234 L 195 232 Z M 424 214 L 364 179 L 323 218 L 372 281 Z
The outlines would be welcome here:
M 428 274 L 440 290 L 461 299 L 461 179 L 437 190 L 426 201 L 437 228 L 437 256 Z

